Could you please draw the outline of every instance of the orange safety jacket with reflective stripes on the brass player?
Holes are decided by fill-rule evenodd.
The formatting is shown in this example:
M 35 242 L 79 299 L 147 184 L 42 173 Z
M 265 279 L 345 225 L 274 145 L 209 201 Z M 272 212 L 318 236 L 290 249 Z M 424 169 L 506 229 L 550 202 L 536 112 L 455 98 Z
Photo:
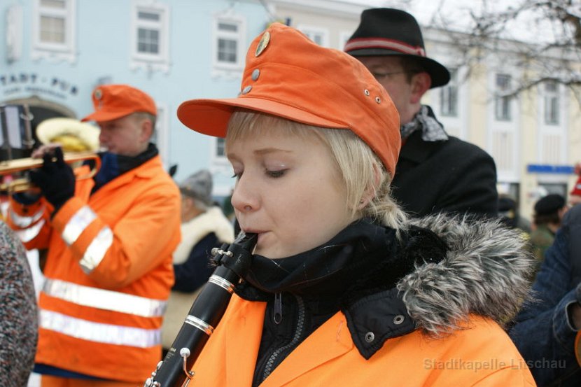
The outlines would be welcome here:
M 48 248 L 36 363 L 141 385 L 161 358 L 179 190 L 159 156 L 93 186 L 78 180 L 52 221 L 44 199 L 8 211 L 27 248 Z

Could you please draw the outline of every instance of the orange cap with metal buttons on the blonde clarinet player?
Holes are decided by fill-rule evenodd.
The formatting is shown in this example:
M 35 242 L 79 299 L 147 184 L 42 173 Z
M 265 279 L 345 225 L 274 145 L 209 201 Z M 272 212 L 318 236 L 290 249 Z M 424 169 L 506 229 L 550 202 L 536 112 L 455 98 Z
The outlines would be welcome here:
M 350 129 L 374 150 L 391 176 L 395 173 L 400 122 L 384 87 L 351 55 L 323 48 L 296 29 L 273 23 L 254 39 L 237 98 L 185 101 L 178 118 L 196 132 L 224 137 L 237 107 L 307 125 Z

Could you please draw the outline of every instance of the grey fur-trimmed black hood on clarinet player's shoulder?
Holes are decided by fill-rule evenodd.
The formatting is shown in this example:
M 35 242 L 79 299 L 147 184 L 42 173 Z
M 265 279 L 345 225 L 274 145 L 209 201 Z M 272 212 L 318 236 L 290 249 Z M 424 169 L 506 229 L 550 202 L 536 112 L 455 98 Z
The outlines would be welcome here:
M 392 277 L 387 286 L 356 295 L 351 290 L 342 307 L 365 358 L 387 339 L 414 330 L 445 337 L 465 326 L 470 314 L 503 325 L 525 299 L 535 265 L 524 235 L 497 220 L 442 214 L 414 219 L 398 244 L 395 260 L 382 271 Z

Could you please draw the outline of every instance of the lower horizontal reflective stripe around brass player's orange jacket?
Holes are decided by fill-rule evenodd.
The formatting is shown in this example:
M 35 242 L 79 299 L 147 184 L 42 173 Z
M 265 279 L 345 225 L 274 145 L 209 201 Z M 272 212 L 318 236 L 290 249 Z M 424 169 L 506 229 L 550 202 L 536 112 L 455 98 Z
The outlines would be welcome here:
M 161 344 L 162 334 L 160 329 L 141 329 L 122 325 L 94 323 L 44 309 L 41 309 L 38 320 L 40 328 L 90 342 L 135 346 L 138 348 L 149 348 Z M 86 355 L 91 356 L 90 353 Z

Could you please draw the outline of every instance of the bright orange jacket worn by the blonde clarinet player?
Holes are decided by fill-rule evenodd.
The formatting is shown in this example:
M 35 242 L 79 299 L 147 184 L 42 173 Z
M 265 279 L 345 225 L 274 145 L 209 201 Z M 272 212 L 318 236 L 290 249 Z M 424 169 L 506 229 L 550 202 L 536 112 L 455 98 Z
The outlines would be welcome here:
M 252 386 L 265 308 L 265 302 L 232 297 L 193 367 L 194 386 Z M 388 339 L 365 360 L 339 312 L 297 346 L 260 387 L 535 386 L 525 361 L 497 323 L 470 316 L 463 328 L 440 339 L 418 330 Z

